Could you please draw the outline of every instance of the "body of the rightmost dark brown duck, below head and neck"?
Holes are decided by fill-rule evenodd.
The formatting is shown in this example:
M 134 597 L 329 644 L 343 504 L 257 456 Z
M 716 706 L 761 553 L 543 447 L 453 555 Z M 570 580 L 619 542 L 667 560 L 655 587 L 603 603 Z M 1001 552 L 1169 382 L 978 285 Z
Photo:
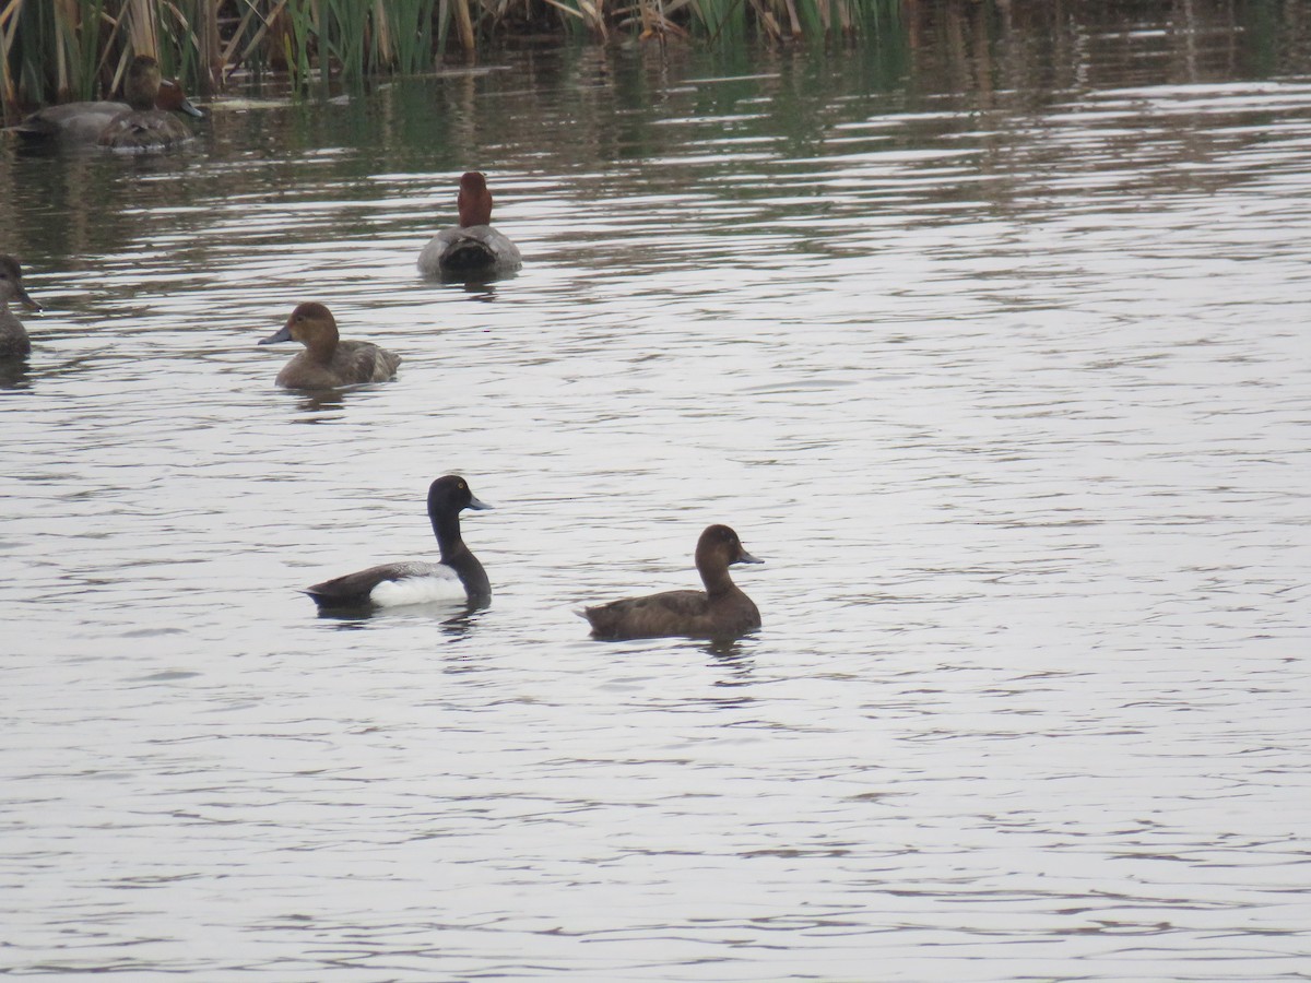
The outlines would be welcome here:
M 625 598 L 583 611 L 594 638 L 735 637 L 760 626 L 760 612 L 734 588 L 711 598 L 703 591 L 665 591 Z

